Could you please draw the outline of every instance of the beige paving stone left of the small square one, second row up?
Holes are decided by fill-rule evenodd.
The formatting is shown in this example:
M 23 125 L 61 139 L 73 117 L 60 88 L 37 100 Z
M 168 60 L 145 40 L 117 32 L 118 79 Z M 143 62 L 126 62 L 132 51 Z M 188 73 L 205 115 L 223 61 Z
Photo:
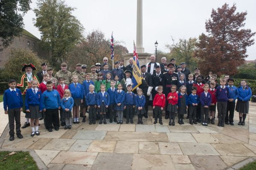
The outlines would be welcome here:
M 139 142 L 118 141 L 115 153 L 138 153 Z

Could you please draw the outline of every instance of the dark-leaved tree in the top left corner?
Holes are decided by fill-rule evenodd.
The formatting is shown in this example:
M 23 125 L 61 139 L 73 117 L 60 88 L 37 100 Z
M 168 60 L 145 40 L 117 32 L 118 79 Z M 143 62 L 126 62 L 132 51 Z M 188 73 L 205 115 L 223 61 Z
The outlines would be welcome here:
M 0 0 L 0 51 L 23 31 L 23 16 L 30 3 L 31 0 Z

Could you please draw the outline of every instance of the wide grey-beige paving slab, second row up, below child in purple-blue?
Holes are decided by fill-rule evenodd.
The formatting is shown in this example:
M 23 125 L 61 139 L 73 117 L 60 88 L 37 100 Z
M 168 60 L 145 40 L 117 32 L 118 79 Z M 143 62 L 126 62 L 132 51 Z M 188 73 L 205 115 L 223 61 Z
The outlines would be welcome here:
M 179 143 L 184 155 L 219 155 L 211 144 Z

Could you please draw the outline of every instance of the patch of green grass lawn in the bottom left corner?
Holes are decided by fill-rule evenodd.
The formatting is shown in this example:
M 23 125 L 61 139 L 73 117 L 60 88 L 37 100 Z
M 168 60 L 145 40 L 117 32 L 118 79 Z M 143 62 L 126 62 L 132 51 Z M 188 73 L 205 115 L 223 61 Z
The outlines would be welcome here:
M 1 151 L 0 170 L 38 170 L 38 167 L 29 152 Z

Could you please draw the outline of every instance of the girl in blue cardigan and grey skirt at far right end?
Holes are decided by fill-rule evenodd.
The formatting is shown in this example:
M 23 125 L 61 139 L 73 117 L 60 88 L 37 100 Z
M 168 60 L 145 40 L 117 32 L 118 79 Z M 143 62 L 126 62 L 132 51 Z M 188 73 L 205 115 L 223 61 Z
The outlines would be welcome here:
M 241 80 L 241 85 L 238 87 L 239 96 L 236 102 L 236 111 L 239 112 L 238 125 L 245 125 L 246 114 L 249 112 L 249 100 L 252 96 L 251 89 L 247 86 L 245 80 Z

